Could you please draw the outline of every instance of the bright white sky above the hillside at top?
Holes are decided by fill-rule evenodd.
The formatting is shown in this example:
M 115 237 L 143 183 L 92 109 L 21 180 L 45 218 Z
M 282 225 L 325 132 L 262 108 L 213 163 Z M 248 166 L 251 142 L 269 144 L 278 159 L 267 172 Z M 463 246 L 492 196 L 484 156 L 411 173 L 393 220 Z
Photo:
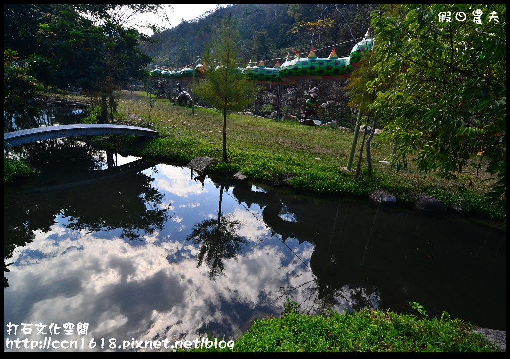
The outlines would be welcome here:
M 163 4 L 165 7 L 165 12 L 168 16 L 170 22 L 163 21 L 161 15 L 155 14 L 144 14 L 141 15 L 136 22 L 137 23 L 147 23 L 152 22 L 156 23 L 159 26 L 163 26 L 165 28 L 173 28 L 179 25 L 182 20 L 192 20 L 194 18 L 199 17 L 200 15 L 212 10 L 216 9 L 218 4 Z M 225 6 L 226 4 L 222 4 Z M 136 24 L 133 24 L 136 25 Z M 152 31 L 147 29 L 141 29 L 146 35 L 152 35 Z

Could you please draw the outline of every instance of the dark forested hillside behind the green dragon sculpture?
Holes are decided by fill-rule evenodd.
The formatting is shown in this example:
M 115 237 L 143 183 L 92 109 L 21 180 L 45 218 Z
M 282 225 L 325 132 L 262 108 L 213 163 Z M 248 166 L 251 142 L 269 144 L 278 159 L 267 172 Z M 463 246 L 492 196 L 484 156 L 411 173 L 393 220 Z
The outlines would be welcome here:
M 191 21 L 154 35 L 154 44 L 142 50 L 162 66 L 183 67 L 200 56 L 211 41 L 212 29 L 223 16 L 237 21 L 240 55 L 244 61 L 286 58 L 298 50 L 307 54 L 315 47 L 319 57 L 327 57 L 335 45 L 339 56 L 347 56 L 353 37 L 362 37 L 375 10 L 370 4 L 236 4 L 207 12 Z M 342 44 L 345 41 L 347 43 Z M 329 46 L 329 47 L 328 47 Z M 285 61 L 285 60 L 284 60 Z M 283 61 L 281 61 L 283 62 Z

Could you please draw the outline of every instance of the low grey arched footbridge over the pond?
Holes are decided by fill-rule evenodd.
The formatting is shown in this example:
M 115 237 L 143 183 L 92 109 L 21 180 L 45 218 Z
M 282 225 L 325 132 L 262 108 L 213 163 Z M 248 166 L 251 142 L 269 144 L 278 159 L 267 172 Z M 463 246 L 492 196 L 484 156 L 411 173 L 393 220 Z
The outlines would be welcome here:
M 58 125 L 36 127 L 27 130 L 4 133 L 4 148 L 7 146 L 14 147 L 50 138 L 110 134 L 149 137 L 159 136 L 158 131 L 136 126 L 108 124 Z

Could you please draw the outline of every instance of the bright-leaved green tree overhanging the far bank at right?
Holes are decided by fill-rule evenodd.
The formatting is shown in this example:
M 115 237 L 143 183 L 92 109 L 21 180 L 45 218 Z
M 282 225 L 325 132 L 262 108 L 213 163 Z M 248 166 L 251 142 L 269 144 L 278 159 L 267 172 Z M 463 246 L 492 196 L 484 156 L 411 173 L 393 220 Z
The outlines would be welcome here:
M 406 5 L 404 13 L 371 16 L 377 78 L 393 77 L 373 105 L 387 122 L 378 142 L 399 141 L 398 169 L 414 153 L 418 169 L 447 179 L 475 156 L 472 165 L 494 175 L 488 196 L 505 206 L 506 5 Z

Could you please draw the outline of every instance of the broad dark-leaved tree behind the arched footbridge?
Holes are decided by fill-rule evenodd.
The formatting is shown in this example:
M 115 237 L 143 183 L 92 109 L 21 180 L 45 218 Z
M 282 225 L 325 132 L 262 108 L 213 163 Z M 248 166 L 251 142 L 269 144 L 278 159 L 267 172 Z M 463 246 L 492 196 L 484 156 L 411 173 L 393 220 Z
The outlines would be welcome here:
M 89 82 L 88 90 L 101 94 L 100 122 L 108 119 L 107 99 L 114 107 L 113 91 L 127 79 L 144 78 L 151 58 L 139 44 L 145 38 L 135 29 L 125 29 L 108 18 L 103 25 L 73 11 L 62 11 L 50 23 L 39 24 L 37 38 L 44 56 L 53 64 L 55 84 L 60 88 Z

